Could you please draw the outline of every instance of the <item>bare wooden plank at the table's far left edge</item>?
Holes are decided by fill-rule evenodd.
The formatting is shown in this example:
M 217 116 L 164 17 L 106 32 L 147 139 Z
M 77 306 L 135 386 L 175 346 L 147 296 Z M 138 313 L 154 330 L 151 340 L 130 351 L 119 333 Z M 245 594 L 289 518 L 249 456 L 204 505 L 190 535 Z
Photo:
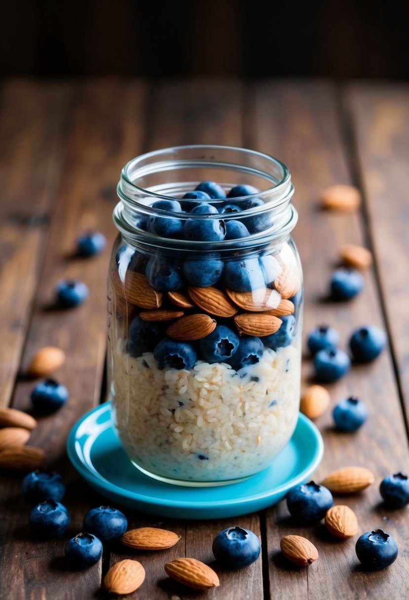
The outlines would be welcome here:
M 0 116 L 0 406 L 10 403 L 61 172 L 71 91 L 11 80 Z M 24 274 L 22 276 L 22 274 Z

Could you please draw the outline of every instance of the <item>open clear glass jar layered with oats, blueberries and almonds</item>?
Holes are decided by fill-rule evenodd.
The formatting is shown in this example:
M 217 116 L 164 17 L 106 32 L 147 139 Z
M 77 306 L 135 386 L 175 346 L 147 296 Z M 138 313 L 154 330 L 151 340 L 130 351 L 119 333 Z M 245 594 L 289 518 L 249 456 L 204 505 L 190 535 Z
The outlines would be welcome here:
M 221 186 L 213 196 L 253 188 L 183 198 L 203 181 Z M 254 475 L 299 412 L 290 172 L 260 152 L 181 146 L 131 160 L 118 195 L 108 383 L 122 445 L 142 472 L 179 485 Z

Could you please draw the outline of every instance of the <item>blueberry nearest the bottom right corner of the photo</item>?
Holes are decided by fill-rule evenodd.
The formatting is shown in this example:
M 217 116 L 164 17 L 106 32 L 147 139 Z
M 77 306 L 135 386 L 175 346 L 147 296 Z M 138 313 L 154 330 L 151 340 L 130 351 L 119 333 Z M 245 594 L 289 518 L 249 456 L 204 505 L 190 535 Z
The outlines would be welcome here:
M 398 556 L 398 544 L 381 529 L 367 531 L 357 539 L 356 556 L 367 569 L 384 569 Z

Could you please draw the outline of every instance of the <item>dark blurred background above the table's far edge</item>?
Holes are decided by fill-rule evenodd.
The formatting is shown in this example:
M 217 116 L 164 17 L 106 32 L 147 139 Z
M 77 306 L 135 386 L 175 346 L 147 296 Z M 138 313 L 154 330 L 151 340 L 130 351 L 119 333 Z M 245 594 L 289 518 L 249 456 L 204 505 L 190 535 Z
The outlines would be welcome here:
M 8 0 L 2 75 L 407 79 L 409 1 Z

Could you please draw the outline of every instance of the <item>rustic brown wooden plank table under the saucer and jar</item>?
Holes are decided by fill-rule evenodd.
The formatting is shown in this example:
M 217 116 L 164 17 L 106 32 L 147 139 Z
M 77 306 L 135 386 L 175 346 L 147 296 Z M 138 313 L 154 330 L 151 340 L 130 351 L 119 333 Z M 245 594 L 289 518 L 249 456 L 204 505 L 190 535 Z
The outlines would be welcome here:
M 20 495 L 21 476 L 0 474 L 2 600 L 105 598 L 101 578 L 109 565 L 131 556 L 112 548 L 83 572 L 70 571 L 64 561 L 65 540 L 81 530 L 89 508 L 103 503 L 68 463 L 65 440 L 74 422 L 105 399 L 109 251 L 89 260 L 76 259 L 73 252 L 81 230 L 101 230 L 109 244 L 115 238 L 111 214 L 125 162 L 141 152 L 185 143 L 255 148 L 290 167 L 299 211 L 294 238 L 305 272 L 306 332 L 329 323 L 341 333 L 342 347 L 353 328 L 368 322 L 389 334 L 390 347 L 377 361 L 353 367 L 328 386 L 332 405 L 357 395 L 368 406 L 369 419 L 356 434 L 333 430 L 330 411 L 317 420 L 325 455 L 314 479 L 342 466 L 372 469 L 374 485 L 336 502 L 356 511 L 360 533 L 381 527 L 395 536 L 399 556 L 385 571 L 362 571 L 356 538 L 334 541 L 323 526 L 296 527 L 285 503 L 260 514 L 202 523 L 125 511 L 130 526 L 161 523 L 182 535 L 176 547 L 163 553 L 132 555 L 147 576 L 131 597 L 408 598 L 408 509 L 387 510 L 378 485 L 389 473 L 409 470 L 409 89 L 293 80 L 11 80 L 2 86 L 1 101 L 0 405 L 30 410 L 33 382 L 18 373 L 39 347 L 65 350 L 67 360 L 56 377 L 70 389 L 70 401 L 55 415 L 39 419 L 30 443 L 44 448 L 50 465 L 64 475 L 72 515 L 69 535 L 35 541 L 29 507 Z M 362 212 L 320 210 L 320 191 L 338 182 L 360 187 Z M 374 268 L 365 273 L 365 290 L 358 298 L 333 304 L 324 296 L 344 242 L 368 245 Z M 53 310 L 55 284 L 62 277 L 86 281 L 89 301 L 76 310 Z M 304 386 L 311 374 L 305 357 Z M 237 572 L 218 569 L 221 586 L 209 592 L 189 592 L 166 577 L 163 565 L 176 556 L 212 563 L 213 536 L 230 524 L 260 535 L 262 556 L 256 563 Z M 289 533 L 305 535 L 317 546 L 320 558 L 308 569 L 282 559 L 279 540 Z

